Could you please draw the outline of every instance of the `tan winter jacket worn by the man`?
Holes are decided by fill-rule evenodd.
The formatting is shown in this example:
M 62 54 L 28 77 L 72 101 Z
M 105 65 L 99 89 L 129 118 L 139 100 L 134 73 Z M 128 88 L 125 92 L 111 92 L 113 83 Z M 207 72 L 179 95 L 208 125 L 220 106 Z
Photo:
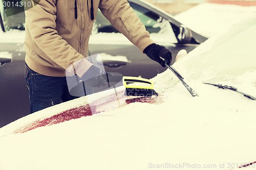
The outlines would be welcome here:
M 34 3 L 35 0 L 32 1 Z M 38 2 L 38 0 L 37 0 Z M 66 69 L 87 57 L 92 32 L 91 0 L 41 0 L 25 11 L 25 61 L 39 74 L 64 77 Z M 98 8 L 112 25 L 125 35 L 141 52 L 152 43 L 133 9 L 126 0 L 93 0 L 94 16 Z M 80 60 L 76 74 L 82 76 L 92 65 Z M 69 71 L 72 69 L 69 67 Z

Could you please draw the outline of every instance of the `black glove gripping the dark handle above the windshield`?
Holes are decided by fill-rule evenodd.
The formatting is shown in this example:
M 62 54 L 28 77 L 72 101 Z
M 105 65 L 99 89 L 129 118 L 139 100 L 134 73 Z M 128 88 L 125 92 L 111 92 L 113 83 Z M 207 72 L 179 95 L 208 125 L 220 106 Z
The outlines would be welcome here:
M 145 53 L 147 57 L 161 64 L 162 67 L 165 67 L 165 62 L 167 65 L 170 65 L 172 62 L 172 53 L 170 53 L 166 47 L 158 44 L 148 45 L 143 53 Z

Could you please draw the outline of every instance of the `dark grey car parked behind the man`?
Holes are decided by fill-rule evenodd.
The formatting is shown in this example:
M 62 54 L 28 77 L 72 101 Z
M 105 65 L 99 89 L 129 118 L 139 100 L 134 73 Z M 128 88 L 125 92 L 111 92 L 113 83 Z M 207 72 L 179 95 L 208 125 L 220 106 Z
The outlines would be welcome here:
M 74 0 L 73 0 L 74 1 Z M 167 46 L 175 56 L 185 49 L 190 52 L 207 38 L 175 20 L 173 16 L 143 1 L 129 0 L 131 7 L 157 43 Z M 24 12 L 6 17 L 0 3 L 4 22 L 0 32 L 0 127 L 29 113 L 29 95 L 24 79 Z M 20 8 L 20 7 L 17 7 Z M 10 8 L 8 10 L 18 11 Z M 6 12 L 8 12 L 8 10 Z M 14 11 L 14 12 L 15 12 Z M 12 12 L 12 11 L 11 11 Z M 124 76 L 155 77 L 163 72 L 160 64 L 143 55 L 136 46 L 115 30 L 101 12 L 89 42 L 89 55 L 101 54 L 106 71 Z M 91 58 L 97 63 L 96 58 Z

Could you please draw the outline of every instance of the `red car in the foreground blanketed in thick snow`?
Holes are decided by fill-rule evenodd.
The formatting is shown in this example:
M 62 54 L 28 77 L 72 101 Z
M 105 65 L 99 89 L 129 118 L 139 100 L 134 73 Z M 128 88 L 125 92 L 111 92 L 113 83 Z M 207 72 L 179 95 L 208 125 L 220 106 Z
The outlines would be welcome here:
M 0 169 L 255 169 L 256 101 L 204 84 L 256 96 L 255 20 L 173 65 L 197 96 L 166 70 L 158 97 L 127 105 L 120 86 L 38 111 L 0 128 Z

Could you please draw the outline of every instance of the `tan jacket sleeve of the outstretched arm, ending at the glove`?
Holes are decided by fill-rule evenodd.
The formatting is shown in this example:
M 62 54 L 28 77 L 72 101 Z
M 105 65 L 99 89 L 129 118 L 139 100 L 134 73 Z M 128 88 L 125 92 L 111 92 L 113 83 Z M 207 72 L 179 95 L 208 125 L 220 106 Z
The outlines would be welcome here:
M 99 9 L 110 23 L 143 53 L 153 44 L 150 34 L 126 0 L 101 0 Z

